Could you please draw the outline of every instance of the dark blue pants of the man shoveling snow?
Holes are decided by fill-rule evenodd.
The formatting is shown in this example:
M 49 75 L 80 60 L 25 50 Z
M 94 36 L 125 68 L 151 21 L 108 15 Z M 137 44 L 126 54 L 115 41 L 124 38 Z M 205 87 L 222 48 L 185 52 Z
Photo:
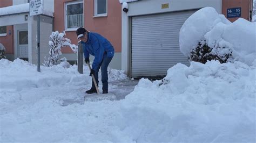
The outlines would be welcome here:
M 109 66 L 110 61 L 112 60 L 113 57 L 108 57 L 107 54 L 105 53 L 103 55 L 103 60 L 100 63 L 99 67 L 95 70 L 95 80 L 97 82 L 97 85 L 99 86 L 99 68 L 102 70 L 102 90 L 107 91 L 109 89 L 109 77 L 107 77 L 107 67 Z M 92 80 L 92 89 L 95 88 L 95 84 L 93 83 Z

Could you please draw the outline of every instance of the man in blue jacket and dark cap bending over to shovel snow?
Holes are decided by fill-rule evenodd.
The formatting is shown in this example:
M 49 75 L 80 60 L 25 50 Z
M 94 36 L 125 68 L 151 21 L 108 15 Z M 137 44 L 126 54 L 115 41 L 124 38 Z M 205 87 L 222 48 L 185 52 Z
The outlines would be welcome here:
M 90 90 L 87 90 L 87 94 L 93 94 L 98 92 L 98 74 L 99 68 L 102 71 L 102 90 L 103 94 L 108 93 L 108 76 L 107 76 L 107 67 L 111 62 L 114 56 L 114 48 L 109 40 L 104 38 L 102 35 L 94 32 L 87 31 L 84 27 L 80 27 L 76 31 L 77 39 L 81 40 L 84 52 L 85 62 L 90 67 L 90 54 L 95 56 L 95 59 L 92 63 L 92 68 L 90 69 L 90 76 L 92 76 L 92 87 Z M 94 81 L 93 81 L 93 78 Z

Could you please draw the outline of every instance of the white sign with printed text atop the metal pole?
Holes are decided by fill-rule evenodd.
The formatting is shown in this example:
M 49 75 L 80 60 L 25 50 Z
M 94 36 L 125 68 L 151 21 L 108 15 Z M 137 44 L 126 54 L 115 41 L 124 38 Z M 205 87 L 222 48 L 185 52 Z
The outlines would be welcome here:
M 36 16 L 43 14 L 43 0 L 30 0 L 29 15 Z

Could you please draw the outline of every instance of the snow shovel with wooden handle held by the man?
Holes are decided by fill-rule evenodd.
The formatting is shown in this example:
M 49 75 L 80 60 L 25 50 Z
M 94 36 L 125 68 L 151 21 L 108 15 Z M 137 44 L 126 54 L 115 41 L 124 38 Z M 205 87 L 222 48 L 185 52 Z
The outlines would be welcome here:
M 87 63 L 89 69 L 91 70 L 90 63 Z M 110 100 L 114 101 L 117 99 L 117 97 L 114 94 L 108 93 L 108 94 L 99 94 L 99 88 L 95 80 L 95 76 L 92 74 L 92 80 L 95 84 L 96 90 L 97 90 L 97 95 L 95 94 L 90 94 L 90 95 L 85 95 L 84 96 L 84 101 L 102 101 L 102 100 Z

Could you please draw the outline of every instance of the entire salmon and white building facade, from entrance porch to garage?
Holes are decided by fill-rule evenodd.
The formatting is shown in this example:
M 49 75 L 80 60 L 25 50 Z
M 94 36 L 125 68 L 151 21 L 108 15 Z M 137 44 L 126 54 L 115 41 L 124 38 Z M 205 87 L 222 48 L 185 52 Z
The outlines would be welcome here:
M 9 60 L 22 58 L 36 64 L 36 17 L 29 16 L 28 6 L 23 11 L 3 12 L 7 6 L 23 7 L 28 2 L 0 0 L 0 43 L 5 46 Z M 44 0 L 44 7 L 54 14 L 42 16 L 41 63 L 49 52 L 51 31 L 65 31 L 65 37 L 77 45 L 76 30 L 85 27 L 102 34 L 114 46 L 111 68 L 123 69 L 130 77 L 163 77 L 167 69 L 179 62 L 190 64 L 179 51 L 179 30 L 197 10 L 212 6 L 231 22 L 240 17 L 252 20 L 252 0 L 132 0 L 126 1 L 127 5 L 123 2 Z M 70 63 L 76 63 L 77 55 L 70 47 L 64 47 L 62 53 Z

